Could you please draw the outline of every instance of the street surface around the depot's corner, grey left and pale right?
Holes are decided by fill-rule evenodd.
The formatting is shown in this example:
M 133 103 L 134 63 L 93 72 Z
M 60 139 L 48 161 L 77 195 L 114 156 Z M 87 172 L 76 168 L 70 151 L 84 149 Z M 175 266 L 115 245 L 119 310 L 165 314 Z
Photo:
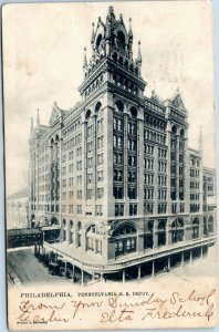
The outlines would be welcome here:
M 173 268 L 169 272 L 155 274 L 155 279 L 168 281 L 170 277 L 188 282 L 198 282 L 198 277 L 208 278 L 216 276 L 216 246 L 209 248 L 208 256 L 204 259 L 194 260 L 192 264 L 186 264 L 182 268 Z M 138 282 L 144 283 L 150 277 L 143 277 Z M 71 279 L 60 276 L 49 274 L 48 268 L 33 255 L 33 248 L 11 250 L 8 252 L 8 281 L 9 284 L 30 284 L 30 283 L 64 283 L 71 284 Z M 131 278 L 126 282 L 136 282 L 136 278 Z M 121 280 L 107 279 L 106 283 L 121 282 Z

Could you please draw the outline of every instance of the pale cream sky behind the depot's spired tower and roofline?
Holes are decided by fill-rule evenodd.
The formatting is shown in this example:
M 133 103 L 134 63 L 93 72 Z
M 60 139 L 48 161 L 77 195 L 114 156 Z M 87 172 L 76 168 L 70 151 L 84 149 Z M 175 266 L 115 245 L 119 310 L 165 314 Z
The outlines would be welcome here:
M 208 1 L 25 3 L 3 7 L 3 94 L 7 194 L 28 185 L 30 117 L 48 124 L 54 101 L 69 110 L 81 100 L 84 46 L 92 22 L 108 6 L 132 18 L 134 56 L 142 42 L 145 95 L 161 98 L 179 89 L 189 112 L 189 146 L 204 135 L 204 164 L 215 167 L 213 55 Z

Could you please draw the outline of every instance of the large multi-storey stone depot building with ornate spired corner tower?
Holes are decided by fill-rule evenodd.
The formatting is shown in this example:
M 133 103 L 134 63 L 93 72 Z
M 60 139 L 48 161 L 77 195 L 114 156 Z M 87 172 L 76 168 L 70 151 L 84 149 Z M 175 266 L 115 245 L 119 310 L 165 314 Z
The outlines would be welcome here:
M 112 7 L 93 25 L 91 48 L 81 102 L 69 111 L 54 103 L 48 126 L 39 116 L 31 125 L 32 226 L 42 226 L 44 249 L 82 274 L 125 280 L 128 270 L 140 278 L 191 262 L 216 241 L 215 211 L 204 211 L 201 134 L 189 149 L 178 90 L 166 101 L 144 95 L 140 42 L 135 59 L 131 22 Z

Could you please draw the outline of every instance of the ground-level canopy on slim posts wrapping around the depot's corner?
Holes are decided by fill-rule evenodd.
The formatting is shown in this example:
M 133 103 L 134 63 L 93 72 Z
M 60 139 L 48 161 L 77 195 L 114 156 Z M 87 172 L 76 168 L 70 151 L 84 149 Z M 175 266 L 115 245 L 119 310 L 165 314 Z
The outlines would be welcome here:
M 199 243 L 171 247 L 168 250 L 154 251 L 145 257 L 108 264 L 102 264 L 101 261 L 83 262 L 64 252 L 63 248 L 46 242 L 43 246 L 36 245 L 34 253 L 44 262 L 50 273 L 59 273 L 72 282 L 84 286 L 95 281 L 126 282 L 133 279 L 155 278 L 160 273 L 168 273 L 173 269 L 182 268 L 204 259 L 213 243 L 215 239 L 211 238 Z

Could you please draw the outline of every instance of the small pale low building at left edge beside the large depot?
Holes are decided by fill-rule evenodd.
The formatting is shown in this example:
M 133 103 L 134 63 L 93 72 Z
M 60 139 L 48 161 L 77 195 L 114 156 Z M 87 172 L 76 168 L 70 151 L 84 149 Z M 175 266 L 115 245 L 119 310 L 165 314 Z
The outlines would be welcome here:
M 7 229 L 29 228 L 29 188 L 7 197 Z

